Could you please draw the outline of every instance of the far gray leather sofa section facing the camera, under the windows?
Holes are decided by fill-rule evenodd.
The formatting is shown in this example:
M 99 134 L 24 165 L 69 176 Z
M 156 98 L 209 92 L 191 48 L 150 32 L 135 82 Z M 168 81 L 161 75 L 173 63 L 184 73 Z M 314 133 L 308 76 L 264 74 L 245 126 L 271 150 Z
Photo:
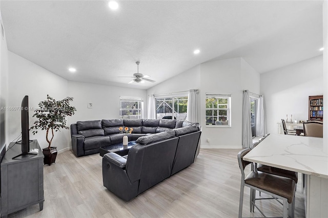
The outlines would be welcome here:
M 77 157 L 99 153 L 100 147 L 107 147 L 121 143 L 124 134 L 118 129 L 120 126 L 132 127 L 132 134 L 128 134 L 129 141 L 137 140 L 147 134 L 167 132 L 168 130 L 196 126 L 200 130 L 198 123 L 191 123 L 186 120 L 167 119 L 113 119 L 113 120 L 92 120 L 78 121 L 71 124 L 72 150 Z M 199 152 L 197 147 L 196 156 Z

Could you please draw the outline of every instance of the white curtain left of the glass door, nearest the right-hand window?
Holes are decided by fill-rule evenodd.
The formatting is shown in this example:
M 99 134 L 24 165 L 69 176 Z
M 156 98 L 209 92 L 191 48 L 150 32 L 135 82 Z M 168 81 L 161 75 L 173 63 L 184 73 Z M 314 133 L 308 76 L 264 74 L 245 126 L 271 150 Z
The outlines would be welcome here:
M 242 96 L 242 147 L 248 148 L 252 145 L 250 93 L 245 90 Z

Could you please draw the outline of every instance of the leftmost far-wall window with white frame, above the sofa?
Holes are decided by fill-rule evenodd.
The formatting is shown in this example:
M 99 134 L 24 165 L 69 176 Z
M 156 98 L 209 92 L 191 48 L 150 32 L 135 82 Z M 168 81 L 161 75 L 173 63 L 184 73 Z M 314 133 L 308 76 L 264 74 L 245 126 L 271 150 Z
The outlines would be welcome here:
M 141 119 L 144 100 L 133 97 L 120 97 L 119 116 L 120 119 Z

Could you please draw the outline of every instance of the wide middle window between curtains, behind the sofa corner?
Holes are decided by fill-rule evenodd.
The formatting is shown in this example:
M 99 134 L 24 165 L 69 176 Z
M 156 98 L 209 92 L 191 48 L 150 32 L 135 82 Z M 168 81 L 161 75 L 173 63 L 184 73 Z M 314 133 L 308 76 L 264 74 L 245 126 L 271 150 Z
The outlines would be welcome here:
M 156 119 L 185 120 L 187 117 L 188 95 L 157 97 Z

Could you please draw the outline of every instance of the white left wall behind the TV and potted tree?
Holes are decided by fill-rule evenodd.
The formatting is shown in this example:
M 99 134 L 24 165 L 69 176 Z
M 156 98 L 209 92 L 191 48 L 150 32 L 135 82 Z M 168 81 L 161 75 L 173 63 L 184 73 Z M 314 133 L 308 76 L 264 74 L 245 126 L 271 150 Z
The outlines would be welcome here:
M 68 93 L 68 81 L 46 69 L 37 66 L 12 52 L 8 52 L 9 58 L 9 107 L 19 107 L 25 95 L 29 96 L 29 106 L 37 107 L 40 101 L 46 100 L 47 94 L 56 100 L 63 99 Z M 20 135 L 20 111 L 7 111 L 9 123 L 9 141 L 13 141 Z M 29 111 L 30 127 L 35 118 L 32 118 L 33 110 Z M 70 138 L 69 130 L 63 129 L 55 132 L 52 146 L 56 146 L 60 151 L 68 147 Z M 36 135 L 30 131 L 30 139 L 37 139 L 40 147 L 48 146 L 46 132 L 39 130 Z

